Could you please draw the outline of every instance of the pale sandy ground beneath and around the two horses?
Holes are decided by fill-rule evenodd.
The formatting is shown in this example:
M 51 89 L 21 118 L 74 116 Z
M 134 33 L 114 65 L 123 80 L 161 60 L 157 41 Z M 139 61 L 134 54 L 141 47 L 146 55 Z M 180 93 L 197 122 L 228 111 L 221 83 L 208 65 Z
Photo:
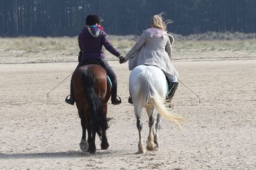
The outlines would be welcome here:
M 0 64 L 0 169 L 256 169 L 256 60 L 176 60 L 183 85 L 174 111 L 180 130 L 163 120 L 159 151 L 137 155 L 138 131 L 127 103 L 127 64 L 109 62 L 123 103 L 109 104 L 109 149 L 81 153 L 76 106 L 64 103 L 76 63 Z M 148 135 L 143 112 L 143 139 Z

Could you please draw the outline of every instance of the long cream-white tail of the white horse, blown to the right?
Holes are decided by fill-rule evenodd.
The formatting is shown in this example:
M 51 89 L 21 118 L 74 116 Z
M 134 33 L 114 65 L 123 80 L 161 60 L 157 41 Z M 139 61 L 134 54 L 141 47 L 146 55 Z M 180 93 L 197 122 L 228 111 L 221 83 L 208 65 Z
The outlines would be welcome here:
M 144 106 L 145 104 L 152 104 L 158 113 L 169 120 L 170 122 L 175 122 L 179 125 L 180 121 L 184 121 L 184 118 L 176 116 L 175 113 L 168 108 L 168 103 L 163 100 L 157 90 L 152 85 L 154 81 L 152 74 L 147 69 L 142 71 L 139 75 L 140 80 L 140 90 L 136 102 Z

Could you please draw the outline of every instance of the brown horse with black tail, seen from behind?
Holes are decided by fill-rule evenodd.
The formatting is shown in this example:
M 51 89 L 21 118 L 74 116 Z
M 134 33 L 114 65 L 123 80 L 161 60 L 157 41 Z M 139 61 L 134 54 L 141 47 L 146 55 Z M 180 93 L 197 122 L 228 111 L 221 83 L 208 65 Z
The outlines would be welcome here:
M 109 144 L 106 136 L 108 119 L 106 115 L 111 87 L 107 78 L 105 69 L 95 64 L 79 67 L 72 76 L 76 106 L 83 129 L 80 143 L 82 152 L 96 152 L 96 133 L 101 139 L 102 150 L 108 149 Z M 86 129 L 88 143 L 86 141 Z

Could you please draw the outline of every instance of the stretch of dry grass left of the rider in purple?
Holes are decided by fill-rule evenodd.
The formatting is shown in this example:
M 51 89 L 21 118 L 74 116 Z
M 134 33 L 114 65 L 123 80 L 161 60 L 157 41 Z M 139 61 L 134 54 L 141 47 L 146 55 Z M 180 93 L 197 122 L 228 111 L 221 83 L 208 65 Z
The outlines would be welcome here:
M 0 38 L 1 63 L 71 62 L 77 51 L 76 38 Z

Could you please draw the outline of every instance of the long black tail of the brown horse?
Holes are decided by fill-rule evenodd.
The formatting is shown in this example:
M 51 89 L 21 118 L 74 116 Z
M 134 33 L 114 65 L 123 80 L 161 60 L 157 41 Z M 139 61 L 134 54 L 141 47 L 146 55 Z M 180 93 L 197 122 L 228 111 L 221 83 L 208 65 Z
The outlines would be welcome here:
M 83 74 L 83 87 L 85 91 L 86 101 L 90 109 L 92 118 L 92 125 L 100 139 L 102 137 L 102 130 L 108 129 L 108 120 L 103 112 L 102 99 L 97 96 L 93 86 L 95 85 L 95 77 L 91 71 L 85 71 Z

